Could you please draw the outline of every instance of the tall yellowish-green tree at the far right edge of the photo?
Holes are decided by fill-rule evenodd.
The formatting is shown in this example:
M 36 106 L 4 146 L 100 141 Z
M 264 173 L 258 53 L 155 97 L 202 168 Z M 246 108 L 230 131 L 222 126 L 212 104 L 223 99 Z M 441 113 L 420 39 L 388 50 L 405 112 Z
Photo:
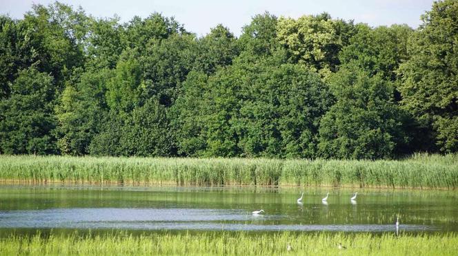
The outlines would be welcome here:
M 458 3 L 437 1 L 408 43 L 410 60 L 401 64 L 402 106 L 435 131 L 441 151 L 458 147 Z

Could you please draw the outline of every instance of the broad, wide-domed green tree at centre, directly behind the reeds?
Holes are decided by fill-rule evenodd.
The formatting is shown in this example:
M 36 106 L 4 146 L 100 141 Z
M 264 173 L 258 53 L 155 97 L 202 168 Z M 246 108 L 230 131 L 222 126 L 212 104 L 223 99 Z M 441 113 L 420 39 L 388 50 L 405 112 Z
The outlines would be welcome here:
M 192 155 L 312 158 L 319 118 L 332 100 L 319 76 L 277 66 L 275 58 L 237 62 L 210 78 L 195 74 L 185 86 L 179 144 Z

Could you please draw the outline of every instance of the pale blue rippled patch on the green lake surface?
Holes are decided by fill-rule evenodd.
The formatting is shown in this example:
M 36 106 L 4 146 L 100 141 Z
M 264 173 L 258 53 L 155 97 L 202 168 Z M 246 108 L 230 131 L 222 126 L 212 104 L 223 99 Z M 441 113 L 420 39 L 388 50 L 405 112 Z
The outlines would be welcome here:
M 344 231 L 390 232 L 393 224 L 274 224 L 286 215 L 260 215 L 228 209 L 45 209 L 0 212 L 0 228 L 122 228 L 132 230 Z M 228 223 L 226 223 L 228 222 Z M 434 231 L 403 224 L 401 231 Z

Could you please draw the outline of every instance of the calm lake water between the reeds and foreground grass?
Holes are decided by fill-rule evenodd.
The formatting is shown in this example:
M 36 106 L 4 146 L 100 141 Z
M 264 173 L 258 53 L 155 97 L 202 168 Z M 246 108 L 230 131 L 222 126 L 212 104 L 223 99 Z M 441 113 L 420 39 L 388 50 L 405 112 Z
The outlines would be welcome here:
M 354 191 L 359 194 L 351 202 Z M 50 229 L 384 233 L 396 232 L 396 217 L 400 233 L 450 232 L 458 231 L 457 202 L 456 191 L 0 185 L 0 234 Z M 265 214 L 252 215 L 259 209 Z

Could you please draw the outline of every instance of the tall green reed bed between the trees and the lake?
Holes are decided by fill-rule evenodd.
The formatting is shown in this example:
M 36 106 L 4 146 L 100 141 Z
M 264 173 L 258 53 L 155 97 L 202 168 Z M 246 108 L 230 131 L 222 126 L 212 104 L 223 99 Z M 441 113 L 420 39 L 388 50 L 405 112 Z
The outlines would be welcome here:
M 458 155 L 405 160 L 0 156 L 3 182 L 458 188 Z

